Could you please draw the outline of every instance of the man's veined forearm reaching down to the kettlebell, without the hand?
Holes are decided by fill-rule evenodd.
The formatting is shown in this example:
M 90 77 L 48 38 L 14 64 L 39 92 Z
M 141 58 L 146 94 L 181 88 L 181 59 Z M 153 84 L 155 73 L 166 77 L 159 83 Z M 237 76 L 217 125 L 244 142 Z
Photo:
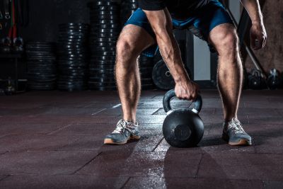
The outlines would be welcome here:
M 163 11 L 145 11 L 151 27 L 156 34 L 156 41 L 168 69 L 175 82 L 187 82 L 190 78 L 185 70 L 180 55 L 178 43 L 173 36 L 172 21 L 167 10 Z

